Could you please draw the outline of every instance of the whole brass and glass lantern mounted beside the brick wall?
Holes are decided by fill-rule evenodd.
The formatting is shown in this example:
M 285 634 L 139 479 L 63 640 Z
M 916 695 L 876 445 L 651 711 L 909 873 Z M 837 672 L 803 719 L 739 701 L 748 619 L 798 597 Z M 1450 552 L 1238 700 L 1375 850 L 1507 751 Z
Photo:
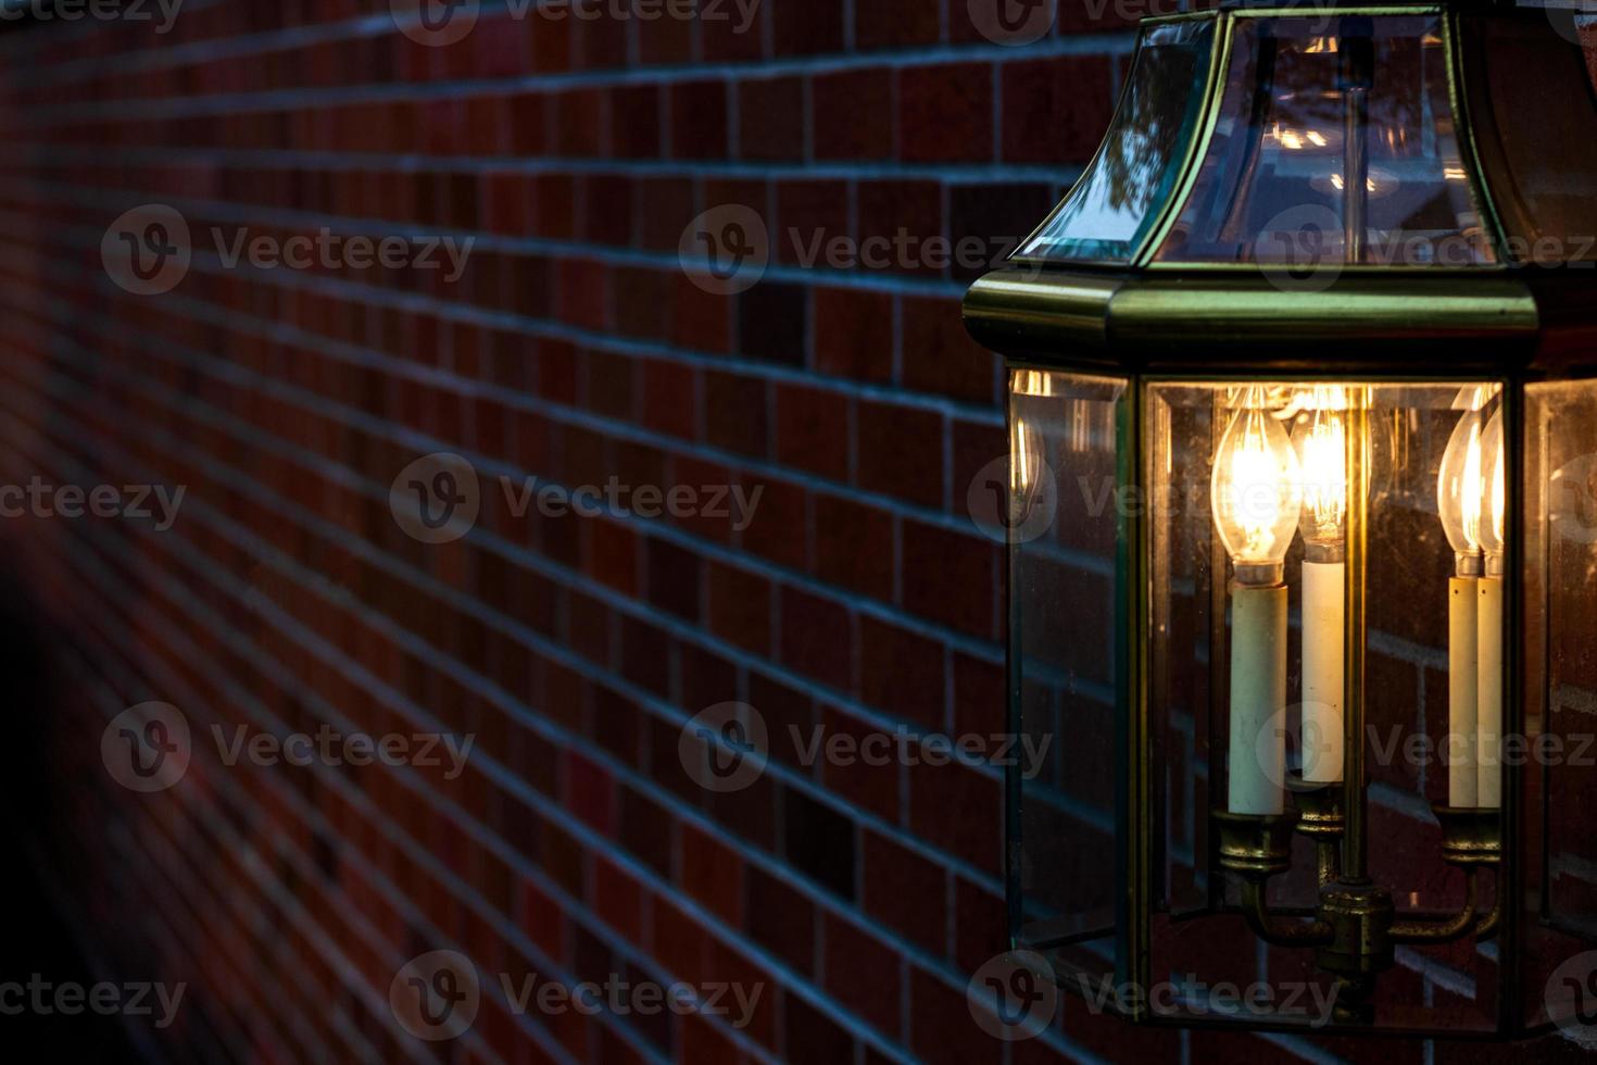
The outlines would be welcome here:
M 1546 11 L 1145 22 L 1104 147 L 965 303 L 1009 367 L 1012 725 L 1060 738 L 1009 781 L 1009 924 L 1065 988 L 1287 1030 L 1597 1011 L 1559 980 L 1597 947 L 1594 235 L 1597 96 Z

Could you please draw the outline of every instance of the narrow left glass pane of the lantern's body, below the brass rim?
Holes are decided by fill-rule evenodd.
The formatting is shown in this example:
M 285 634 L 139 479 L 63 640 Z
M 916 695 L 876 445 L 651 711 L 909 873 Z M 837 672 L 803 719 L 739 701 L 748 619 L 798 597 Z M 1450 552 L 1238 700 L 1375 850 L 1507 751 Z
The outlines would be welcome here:
M 1014 370 L 1009 391 L 1011 932 L 1056 976 L 1116 971 L 1124 786 L 1124 382 Z

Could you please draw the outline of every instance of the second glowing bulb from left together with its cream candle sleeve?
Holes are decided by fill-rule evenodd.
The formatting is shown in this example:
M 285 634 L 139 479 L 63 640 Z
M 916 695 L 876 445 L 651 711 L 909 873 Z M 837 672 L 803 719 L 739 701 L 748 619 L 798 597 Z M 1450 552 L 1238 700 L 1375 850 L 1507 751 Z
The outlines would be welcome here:
M 1346 639 L 1348 430 L 1346 391 L 1318 385 L 1303 398 L 1294 433 L 1303 471 L 1303 779 L 1341 781 Z

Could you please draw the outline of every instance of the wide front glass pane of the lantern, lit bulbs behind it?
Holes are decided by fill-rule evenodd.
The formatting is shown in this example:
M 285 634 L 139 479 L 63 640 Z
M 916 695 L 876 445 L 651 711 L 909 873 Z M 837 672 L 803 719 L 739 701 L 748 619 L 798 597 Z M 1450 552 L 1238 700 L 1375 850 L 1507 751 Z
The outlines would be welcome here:
M 1365 869 L 1399 920 L 1436 924 L 1464 905 L 1464 873 L 1444 862 L 1433 813 L 1433 803 L 1450 802 L 1458 591 L 1444 516 L 1460 500 L 1440 503 L 1439 487 L 1458 426 L 1477 418 L 1485 430 L 1498 388 L 1153 382 L 1147 390 L 1153 1011 L 1303 1028 L 1495 1030 L 1495 948 L 1468 937 L 1402 947 L 1375 977 L 1369 1019 L 1335 1019 L 1335 980 L 1314 948 L 1266 944 L 1246 921 L 1242 881 L 1219 859 L 1219 824 L 1226 811 L 1306 810 L 1305 794 L 1324 794 L 1343 776 L 1353 621 L 1345 588 L 1348 541 L 1357 535 L 1348 445 L 1365 441 Z M 1484 461 L 1477 450 L 1469 468 L 1477 492 L 1466 509 L 1477 536 L 1480 508 L 1490 506 Z M 1477 591 L 1469 584 L 1471 607 Z M 1479 661 L 1468 661 L 1460 675 L 1476 688 Z M 1477 731 L 1474 712 L 1460 738 L 1474 742 Z M 1477 766 L 1468 779 L 1458 802 L 1476 805 Z M 1289 851 L 1290 867 L 1266 891 L 1273 920 L 1286 924 L 1313 918 L 1321 885 L 1316 840 L 1294 832 Z M 1330 861 L 1343 861 L 1340 846 Z M 1488 909 L 1493 875 L 1479 883 Z M 1226 1000 L 1226 985 L 1260 990 L 1239 1003 Z

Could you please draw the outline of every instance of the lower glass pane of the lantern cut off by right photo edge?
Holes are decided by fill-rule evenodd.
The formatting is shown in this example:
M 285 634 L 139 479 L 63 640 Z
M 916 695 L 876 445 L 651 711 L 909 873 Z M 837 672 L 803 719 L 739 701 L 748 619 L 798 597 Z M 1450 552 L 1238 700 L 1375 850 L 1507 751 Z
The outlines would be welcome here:
M 1522 987 L 1528 1023 L 1597 1049 L 1597 382 L 1525 406 Z

